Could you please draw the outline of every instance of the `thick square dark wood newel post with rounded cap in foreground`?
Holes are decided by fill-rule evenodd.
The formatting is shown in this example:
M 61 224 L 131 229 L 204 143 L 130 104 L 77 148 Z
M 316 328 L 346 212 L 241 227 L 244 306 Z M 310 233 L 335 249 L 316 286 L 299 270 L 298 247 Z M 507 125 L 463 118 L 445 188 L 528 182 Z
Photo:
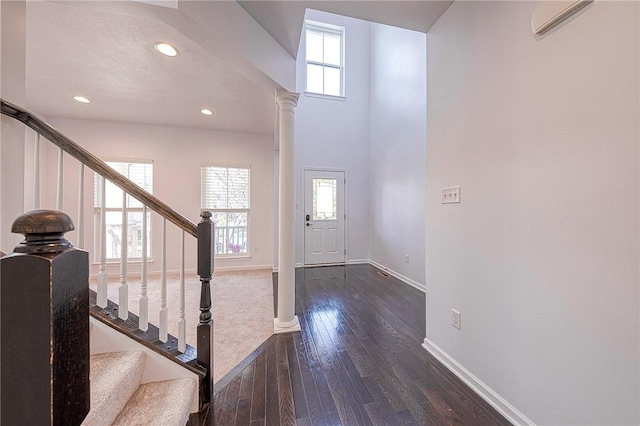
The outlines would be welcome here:
M 0 260 L 1 424 L 80 425 L 89 412 L 89 254 L 71 218 L 34 210 Z

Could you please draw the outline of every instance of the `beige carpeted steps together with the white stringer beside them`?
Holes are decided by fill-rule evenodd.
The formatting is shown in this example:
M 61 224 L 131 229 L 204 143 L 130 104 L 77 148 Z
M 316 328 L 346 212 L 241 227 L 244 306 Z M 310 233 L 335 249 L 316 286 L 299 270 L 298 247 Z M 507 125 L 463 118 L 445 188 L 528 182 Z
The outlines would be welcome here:
M 187 423 L 198 408 L 198 375 L 125 338 L 103 320 L 92 317 L 89 327 L 91 410 L 83 426 Z

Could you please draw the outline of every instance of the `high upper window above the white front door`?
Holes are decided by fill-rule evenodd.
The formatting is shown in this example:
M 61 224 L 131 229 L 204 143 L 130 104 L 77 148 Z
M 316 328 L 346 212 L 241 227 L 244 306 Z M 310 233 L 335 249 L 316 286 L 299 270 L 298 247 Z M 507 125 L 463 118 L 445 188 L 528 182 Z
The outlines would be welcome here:
M 344 28 L 305 21 L 305 34 L 306 91 L 344 96 Z

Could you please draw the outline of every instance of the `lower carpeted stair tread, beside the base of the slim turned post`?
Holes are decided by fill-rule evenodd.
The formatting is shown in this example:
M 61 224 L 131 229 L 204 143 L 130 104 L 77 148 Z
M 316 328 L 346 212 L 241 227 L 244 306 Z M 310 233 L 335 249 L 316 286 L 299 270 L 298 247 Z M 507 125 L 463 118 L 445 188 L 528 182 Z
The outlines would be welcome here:
M 183 426 L 196 391 L 193 379 L 145 383 L 138 387 L 114 426 Z

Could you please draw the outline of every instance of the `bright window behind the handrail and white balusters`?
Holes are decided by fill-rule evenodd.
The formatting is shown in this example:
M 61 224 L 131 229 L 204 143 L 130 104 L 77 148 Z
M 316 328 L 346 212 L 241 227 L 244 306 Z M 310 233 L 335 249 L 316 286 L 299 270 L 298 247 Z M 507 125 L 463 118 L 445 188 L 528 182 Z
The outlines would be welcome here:
M 145 160 L 107 161 L 111 168 L 129 178 L 133 183 L 153 193 L 153 163 Z M 102 179 L 93 178 L 94 253 L 100 253 L 100 224 Z M 127 194 L 127 258 L 142 259 L 142 203 Z M 122 253 L 122 190 L 107 180 L 105 184 L 106 259 L 120 260 Z M 151 257 L 151 212 L 147 210 L 147 258 Z M 99 261 L 100 259 L 96 259 Z

